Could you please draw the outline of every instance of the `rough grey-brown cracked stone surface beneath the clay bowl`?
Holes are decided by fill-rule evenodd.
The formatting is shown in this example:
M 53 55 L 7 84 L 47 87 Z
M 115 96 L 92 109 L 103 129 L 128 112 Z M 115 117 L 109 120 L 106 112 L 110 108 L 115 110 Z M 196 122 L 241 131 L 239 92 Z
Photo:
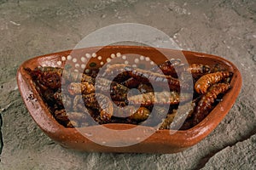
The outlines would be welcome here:
M 0 169 L 255 169 L 255 9 L 253 0 L 0 0 Z M 55 144 L 29 116 L 15 82 L 18 66 L 123 22 L 154 26 L 180 48 L 222 56 L 241 71 L 236 104 L 199 144 L 177 154 L 82 153 Z

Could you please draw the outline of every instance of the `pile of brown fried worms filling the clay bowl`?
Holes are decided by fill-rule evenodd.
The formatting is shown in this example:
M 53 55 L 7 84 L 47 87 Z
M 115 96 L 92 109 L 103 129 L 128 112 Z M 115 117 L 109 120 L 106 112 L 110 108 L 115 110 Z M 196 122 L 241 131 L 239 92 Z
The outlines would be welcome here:
M 104 77 L 99 78 L 96 78 L 97 70 L 81 73 L 57 67 L 25 70 L 32 77 L 50 113 L 64 127 L 143 123 L 160 130 L 170 129 L 179 105 L 191 101 L 189 95 L 180 95 L 183 88 L 193 92 L 191 107 L 189 111 L 184 111 L 187 115 L 180 127 L 180 130 L 189 129 L 201 122 L 221 101 L 230 89 L 232 77 L 232 72 L 213 66 L 191 64 L 186 68 L 174 67 L 170 61 L 149 70 L 114 64 L 108 67 Z M 110 80 L 109 77 L 116 71 L 122 73 Z M 189 85 L 186 81 L 181 83 L 177 76 L 179 72 L 191 73 L 193 84 Z M 167 84 L 169 90 L 161 88 L 163 83 Z M 110 88 L 106 88 L 108 84 L 111 84 Z M 153 84 L 159 88 L 153 88 Z M 132 88 L 137 88 L 140 93 L 127 95 Z M 100 93 L 96 94 L 96 89 Z M 155 113 L 151 114 L 153 108 Z M 161 110 L 166 108 L 166 115 L 161 115 L 165 112 Z

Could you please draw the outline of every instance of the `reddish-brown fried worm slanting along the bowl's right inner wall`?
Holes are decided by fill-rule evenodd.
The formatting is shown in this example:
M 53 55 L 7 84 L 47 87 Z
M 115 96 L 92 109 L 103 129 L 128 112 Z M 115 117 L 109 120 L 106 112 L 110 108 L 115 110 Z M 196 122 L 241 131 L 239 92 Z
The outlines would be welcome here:
M 218 83 L 213 84 L 211 88 L 207 91 L 207 94 L 204 94 L 201 100 L 198 102 L 195 113 L 193 116 L 193 124 L 201 122 L 211 111 L 212 104 L 217 99 L 218 94 L 224 94 L 230 89 L 230 84 L 227 83 Z

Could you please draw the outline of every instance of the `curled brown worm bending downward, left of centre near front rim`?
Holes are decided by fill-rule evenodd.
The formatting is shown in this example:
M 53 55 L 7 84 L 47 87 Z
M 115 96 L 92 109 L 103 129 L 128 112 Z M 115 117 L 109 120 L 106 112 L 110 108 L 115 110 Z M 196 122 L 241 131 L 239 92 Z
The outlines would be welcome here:
M 109 121 L 113 116 L 113 104 L 104 94 L 84 94 L 84 105 L 100 112 L 102 121 Z

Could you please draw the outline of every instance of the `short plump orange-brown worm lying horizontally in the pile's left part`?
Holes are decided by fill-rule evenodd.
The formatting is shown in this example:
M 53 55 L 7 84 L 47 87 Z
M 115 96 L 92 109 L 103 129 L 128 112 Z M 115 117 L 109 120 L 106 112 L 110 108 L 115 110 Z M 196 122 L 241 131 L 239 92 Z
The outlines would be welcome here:
M 91 94 L 95 92 L 94 85 L 90 82 L 71 82 L 67 90 L 71 95 Z

